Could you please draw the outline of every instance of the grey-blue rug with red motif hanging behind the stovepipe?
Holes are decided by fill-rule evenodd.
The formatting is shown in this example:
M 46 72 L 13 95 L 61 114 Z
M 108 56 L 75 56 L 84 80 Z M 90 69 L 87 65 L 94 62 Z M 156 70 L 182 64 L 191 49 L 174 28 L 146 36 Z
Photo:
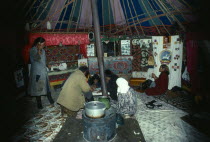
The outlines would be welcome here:
M 131 74 L 132 59 L 132 56 L 104 57 L 104 68 L 115 74 Z M 88 65 L 91 74 L 99 73 L 97 58 L 88 58 Z

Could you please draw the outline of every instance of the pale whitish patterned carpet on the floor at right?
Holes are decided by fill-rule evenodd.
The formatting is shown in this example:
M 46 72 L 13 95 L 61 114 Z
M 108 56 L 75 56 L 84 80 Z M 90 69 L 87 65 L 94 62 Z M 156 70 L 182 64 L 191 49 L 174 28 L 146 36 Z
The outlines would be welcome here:
M 161 97 L 165 98 L 164 96 Z M 135 117 L 139 122 L 142 133 L 147 142 L 210 141 L 210 137 L 201 133 L 194 126 L 189 125 L 181 119 L 188 115 L 186 111 L 178 109 L 177 107 L 161 101 L 154 96 L 147 96 L 139 93 L 137 100 L 139 109 L 137 110 Z M 146 105 L 151 101 L 155 101 L 154 108 L 148 108 Z M 173 101 L 171 100 L 171 102 Z M 161 106 L 158 107 L 158 105 Z

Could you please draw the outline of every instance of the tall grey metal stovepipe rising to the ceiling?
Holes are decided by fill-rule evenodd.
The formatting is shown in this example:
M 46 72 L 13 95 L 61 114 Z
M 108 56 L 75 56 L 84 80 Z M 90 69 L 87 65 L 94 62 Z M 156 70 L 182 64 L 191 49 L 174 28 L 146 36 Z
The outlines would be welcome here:
M 95 42 L 96 42 L 96 50 L 97 50 L 97 58 L 98 58 L 98 67 L 101 76 L 101 85 L 102 85 L 102 95 L 107 96 L 107 88 L 105 82 L 104 75 L 104 58 L 103 58 L 103 50 L 101 43 L 101 33 L 100 33 L 100 25 L 99 25 L 99 17 L 98 17 L 98 8 L 96 4 L 97 0 L 91 0 L 92 5 L 92 14 L 93 14 L 93 23 L 94 23 L 94 32 L 95 32 Z

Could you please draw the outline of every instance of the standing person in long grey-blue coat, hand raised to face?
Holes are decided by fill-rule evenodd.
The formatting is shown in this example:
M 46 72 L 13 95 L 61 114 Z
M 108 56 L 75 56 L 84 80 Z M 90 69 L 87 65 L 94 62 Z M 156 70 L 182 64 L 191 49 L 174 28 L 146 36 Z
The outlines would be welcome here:
M 54 100 L 51 96 L 49 78 L 46 67 L 46 55 L 45 39 L 38 37 L 34 40 L 33 47 L 30 49 L 30 78 L 29 78 L 29 94 L 36 97 L 37 107 L 42 109 L 42 95 L 47 95 L 47 98 L 51 105 L 54 104 Z

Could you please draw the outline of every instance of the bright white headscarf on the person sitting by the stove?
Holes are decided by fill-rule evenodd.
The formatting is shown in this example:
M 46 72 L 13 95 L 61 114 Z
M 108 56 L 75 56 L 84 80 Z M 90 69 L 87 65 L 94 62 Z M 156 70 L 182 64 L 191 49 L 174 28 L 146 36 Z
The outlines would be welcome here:
M 130 86 L 128 85 L 128 81 L 124 78 L 120 77 L 116 80 L 117 83 L 117 93 L 127 93 Z

